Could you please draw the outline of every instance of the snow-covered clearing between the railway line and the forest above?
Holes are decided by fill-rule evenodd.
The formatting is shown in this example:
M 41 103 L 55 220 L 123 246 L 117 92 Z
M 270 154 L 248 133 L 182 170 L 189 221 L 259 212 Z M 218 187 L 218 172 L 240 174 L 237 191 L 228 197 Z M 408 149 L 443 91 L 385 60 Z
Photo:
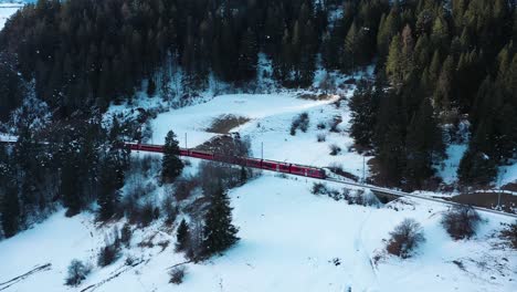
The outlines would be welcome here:
M 205 103 L 171 109 L 152 119 L 150 143 L 162 144 L 167 132 L 172 129 L 182 147 L 186 145 L 186 134 L 187 146 L 196 147 L 218 135 L 207 132 L 213 121 L 221 115 L 236 115 L 250 121 L 231 132 L 239 132 L 251 139 L 255 157 L 261 157 L 263 149 L 264 159 L 320 167 L 338 164 L 344 170 L 361 177 L 363 157 L 348 150 L 354 140 L 346 133 L 349 122 L 347 102 L 341 102 L 337 108 L 335 102 L 338 96 L 314 101 L 300 98 L 299 94 L 303 93 L 219 95 Z M 349 96 L 347 94 L 346 97 Z M 110 111 L 116 113 L 125 108 L 116 106 Z M 303 133 L 297 129 L 295 136 L 289 135 L 291 123 L 304 112 L 309 116 L 308 131 Z M 338 126 L 340 133 L 329 132 L 335 117 L 342 119 Z M 325 129 L 318 129 L 318 124 L 324 124 Z M 317 143 L 318 134 L 325 135 L 326 142 Z M 330 155 L 333 144 L 341 148 L 340 154 Z

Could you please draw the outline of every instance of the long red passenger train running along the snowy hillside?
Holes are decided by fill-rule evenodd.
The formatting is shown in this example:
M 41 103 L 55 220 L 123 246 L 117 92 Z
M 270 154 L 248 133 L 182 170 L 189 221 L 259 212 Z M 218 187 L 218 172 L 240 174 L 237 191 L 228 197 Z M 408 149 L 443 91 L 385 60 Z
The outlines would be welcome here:
M 163 153 L 163 146 L 161 145 L 126 143 L 126 146 L 128 146 L 129 149 L 131 150 Z M 223 161 L 223 163 L 229 163 L 229 164 L 234 164 L 234 165 L 242 165 L 246 167 L 297 175 L 297 176 L 305 176 L 305 177 L 313 177 L 313 178 L 320 178 L 320 179 L 326 178 L 324 169 L 310 167 L 310 166 L 304 166 L 304 165 L 257 159 L 257 158 L 252 158 L 252 157 L 238 157 L 238 156 L 228 157 L 224 155 L 214 154 L 210 152 L 186 149 L 186 148 L 180 148 L 180 155 L 193 157 L 193 158 L 200 158 L 204 160 Z

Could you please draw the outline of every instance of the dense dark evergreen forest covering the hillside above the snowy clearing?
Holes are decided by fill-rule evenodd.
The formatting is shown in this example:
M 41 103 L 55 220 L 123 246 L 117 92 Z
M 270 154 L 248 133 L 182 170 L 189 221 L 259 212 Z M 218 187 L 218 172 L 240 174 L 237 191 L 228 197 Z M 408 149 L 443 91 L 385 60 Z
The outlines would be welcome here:
M 0 145 L 3 234 L 56 202 L 73 215 L 98 199 L 113 213 L 127 167 L 117 145 L 134 128 L 103 125 L 109 103 L 130 100 L 143 82 L 150 95 L 172 95 L 171 69 L 192 91 L 211 75 L 245 87 L 256 82 L 258 53 L 286 87 L 310 86 L 318 66 L 376 65 L 349 106 L 357 148 L 376 156 L 377 184 L 436 186 L 435 165 L 464 133 L 460 181 L 490 184 L 517 158 L 516 42 L 515 0 L 28 4 L 0 32 L 0 121 L 14 121 L 20 137 Z

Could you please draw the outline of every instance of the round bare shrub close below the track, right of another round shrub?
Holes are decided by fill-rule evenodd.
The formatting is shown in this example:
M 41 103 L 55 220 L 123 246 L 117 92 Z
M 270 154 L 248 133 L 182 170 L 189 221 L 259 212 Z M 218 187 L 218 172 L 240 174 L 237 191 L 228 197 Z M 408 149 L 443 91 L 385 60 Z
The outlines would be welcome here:
M 455 205 L 443 215 L 442 225 L 455 240 L 468 239 L 476 233 L 481 217 L 471 206 Z

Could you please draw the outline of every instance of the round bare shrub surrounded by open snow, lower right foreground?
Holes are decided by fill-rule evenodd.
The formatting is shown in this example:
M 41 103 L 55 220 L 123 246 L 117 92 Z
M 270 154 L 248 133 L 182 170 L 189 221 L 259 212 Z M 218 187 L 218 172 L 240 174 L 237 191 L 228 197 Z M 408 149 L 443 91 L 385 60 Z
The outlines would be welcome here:
M 422 226 L 410 218 L 398 225 L 390 236 L 387 251 L 402 259 L 411 257 L 412 251 L 425 241 Z

